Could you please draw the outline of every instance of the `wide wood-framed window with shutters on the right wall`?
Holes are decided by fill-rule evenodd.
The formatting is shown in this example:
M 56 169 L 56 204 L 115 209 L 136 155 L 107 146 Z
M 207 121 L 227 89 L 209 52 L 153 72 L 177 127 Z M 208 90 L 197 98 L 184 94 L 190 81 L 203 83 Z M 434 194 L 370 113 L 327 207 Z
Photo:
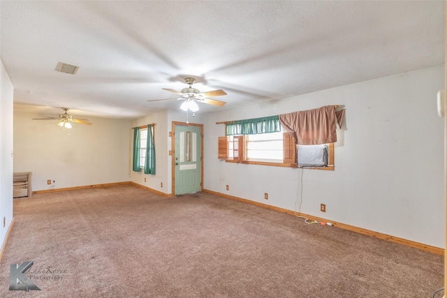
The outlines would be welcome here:
M 227 162 L 334 170 L 334 146 L 300 145 L 288 133 L 219 137 L 219 159 Z

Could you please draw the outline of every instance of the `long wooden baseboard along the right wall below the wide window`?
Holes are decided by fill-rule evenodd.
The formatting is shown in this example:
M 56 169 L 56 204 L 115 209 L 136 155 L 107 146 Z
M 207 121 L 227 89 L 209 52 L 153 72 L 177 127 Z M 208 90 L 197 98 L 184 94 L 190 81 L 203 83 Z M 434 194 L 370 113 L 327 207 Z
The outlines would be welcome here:
M 365 234 L 365 235 L 368 235 L 368 236 L 372 236 L 372 237 L 376 237 L 376 238 L 379 238 L 379 239 L 395 242 L 397 244 L 402 244 L 402 245 L 405 245 L 405 246 L 411 246 L 413 248 L 418 248 L 418 249 L 423 250 L 423 251 L 429 251 L 430 253 L 436 253 L 437 255 L 444 255 L 444 251 L 445 251 L 444 248 L 439 248 L 439 247 L 436 247 L 436 246 L 430 246 L 430 245 L 422 244 L 422 243 L 419 243 L 419 242 L 416 242 L 416 241 L 411 241 L 411 240 L 408 240 L 408 239 L 395 237 L 395 236 L 391 236 L 391 235 L 388 235 L 388 234 L 383 234 L 383 233 L 380 233 L 380 232 L 374 232 L 372 230 L 358 228 L 358 227 L 355 227 L 353 225 L 346 225 L 346 223 L 338 223 L 336 221 L 330 221 L 327 218 L 321 218 L 321 217 L 312 216 L 312 215 L 309 215 L 309 214 L 302 214 L 302 213 L 297 214 L 293 210 L 283 209 L 283 208 L 280 208 L 280 207 L 274 207 L 274 206 L 270 206 L 268 204 L 263 204 L 263 203 L 260 203 L 260 202 L 255 202 L 255 201 L 251 201 L 251 200 L 247 200 L 247 199 L 238 198 L 238 197 L 235 197 L 233 195 L 226 195 L 225 193 L 218 193 L 216 191 L 210 191 L 210 190 L 207 190 L 207 189 L 204 189 L 203 191 L 205 193 L 212 193 L 214 195 L 219 195 L 219 196 L 221 196 L 223 198 L 228 198 L 228 199 L 231 199 L 231 200 L 237 200 L 237 201 L 245 202 L 245 203 L 248 203 L 248 204 L 254 204 L 254 205 L 259 206 L 259 207 L 272 209 L 272 210 L 283 212 L 283 213 L 286 213 L 286 214 L 304 216 L 305 218 L 309 218 L 309 220 L 311 220 L 311 221 L 318 221 L 318 222 L 325 222 L 325 223 L 330 222 L 330 223 L 332 223 L 332 225 L 334 225 L 334 226 L 336 226 L 338 228 L 342 228 L 344 230 L 358 232 L 360 234 Z

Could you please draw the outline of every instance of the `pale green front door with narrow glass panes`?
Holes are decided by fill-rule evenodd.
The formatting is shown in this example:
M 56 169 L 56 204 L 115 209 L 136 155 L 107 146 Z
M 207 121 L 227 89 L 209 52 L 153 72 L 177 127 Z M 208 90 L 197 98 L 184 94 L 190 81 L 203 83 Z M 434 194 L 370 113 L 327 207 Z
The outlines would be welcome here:
M 175 195 L 202 190 L 201 142 L 201 126 L 175 126 Z

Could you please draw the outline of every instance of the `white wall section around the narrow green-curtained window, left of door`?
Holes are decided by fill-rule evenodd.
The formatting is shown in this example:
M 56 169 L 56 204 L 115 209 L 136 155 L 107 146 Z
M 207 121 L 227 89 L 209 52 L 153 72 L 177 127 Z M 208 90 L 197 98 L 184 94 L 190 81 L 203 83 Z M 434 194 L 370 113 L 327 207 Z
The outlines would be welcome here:
M 189 116 L 190 123 L 201 124 L 202 116 L 200 112 L 196 117 Z M 129 170 L 131 171 L 131 181 L 155 191 L 172 194 L 172 156 L 169 151 L 172 150 L 172 137 L 169 137 L 169 132 L 172 131 L 173 121 L 186 122 L 186 112 L 179 111 L 161 111 L 154 114 L 149 114 L 146 117 L 140 117 L 131 122 L 131 127 L 144 126 L 147 124 L 155 124 L 154 129 L 154 145 L 155 145 L 155 165 L 156 174 L 144 174 L 144 172 L 132 171 L 132 155 L 133 155 L 133 130 L 131 130 L 131 146 L 130 146 L 130 163 Z M 146 181 L 145 181 L 146 178 Z M 161 187 L 163 183 L 163 187 Z

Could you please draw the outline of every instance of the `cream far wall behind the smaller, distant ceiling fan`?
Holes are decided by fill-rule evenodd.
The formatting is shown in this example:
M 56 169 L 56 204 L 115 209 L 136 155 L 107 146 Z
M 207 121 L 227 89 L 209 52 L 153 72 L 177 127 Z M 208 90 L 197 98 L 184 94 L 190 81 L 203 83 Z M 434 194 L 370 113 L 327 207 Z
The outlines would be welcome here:
M 129 181 L 129 120 L 89 117 L 65 129 L 14 111 L 14 172 L 33 173 L 33 191 Z

